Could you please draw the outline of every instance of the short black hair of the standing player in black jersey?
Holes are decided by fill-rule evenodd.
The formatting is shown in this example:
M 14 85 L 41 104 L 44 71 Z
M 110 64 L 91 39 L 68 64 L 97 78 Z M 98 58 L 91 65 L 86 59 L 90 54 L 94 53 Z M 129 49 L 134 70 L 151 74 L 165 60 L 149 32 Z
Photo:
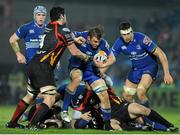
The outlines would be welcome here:
M 51 21 L 57 21 L 60 19 L 60 15 L 64 15 L 64 8 L 62 7 L 53 7 L 50 11 Z

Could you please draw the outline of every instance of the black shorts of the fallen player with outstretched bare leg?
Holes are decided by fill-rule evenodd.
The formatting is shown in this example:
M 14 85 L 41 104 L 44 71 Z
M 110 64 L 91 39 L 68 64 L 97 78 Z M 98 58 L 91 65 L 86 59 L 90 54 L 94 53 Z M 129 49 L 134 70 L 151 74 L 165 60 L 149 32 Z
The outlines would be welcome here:
M 111 103 L 111 118 L 120 122 L 129 122 L 131 118 L 128 113 L 129 103 L 127 101 L 121 102 L 121 104 Z

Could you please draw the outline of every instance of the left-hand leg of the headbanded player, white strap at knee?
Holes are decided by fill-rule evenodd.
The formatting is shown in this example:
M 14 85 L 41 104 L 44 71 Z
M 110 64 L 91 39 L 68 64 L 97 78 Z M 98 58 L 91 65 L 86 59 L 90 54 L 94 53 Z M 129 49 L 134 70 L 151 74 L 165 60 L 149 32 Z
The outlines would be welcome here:
M 123 87 L 123 94 L 122 94 L 123 98 L 128 102 L 133 102 L 134 100 L 133 96 L 136 94 L 136 88 L 137 88 L 137 84 L 126 79 L 125 85 Z

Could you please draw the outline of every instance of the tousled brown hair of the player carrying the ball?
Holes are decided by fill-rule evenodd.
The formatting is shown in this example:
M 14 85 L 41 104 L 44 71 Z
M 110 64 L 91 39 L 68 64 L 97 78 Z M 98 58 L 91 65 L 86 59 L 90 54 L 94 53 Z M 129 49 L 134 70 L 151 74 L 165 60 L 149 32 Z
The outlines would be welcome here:
M 90 28 L 88 33 L 90 38 L 96 37 L 97 39 L 101 39 L 103 34 L 104 34 L 104 28 L 101 25 Z

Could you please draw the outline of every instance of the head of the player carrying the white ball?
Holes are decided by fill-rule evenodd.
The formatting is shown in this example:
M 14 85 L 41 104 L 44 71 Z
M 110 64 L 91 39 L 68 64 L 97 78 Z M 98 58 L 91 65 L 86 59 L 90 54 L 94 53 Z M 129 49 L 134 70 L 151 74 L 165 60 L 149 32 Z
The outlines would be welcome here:
M 92 48 L 96 49 L 99 46 L 101 38 L 103 36 L 103 27 L 96 26 L 89 30 L 88 42 L 91 44 Z

